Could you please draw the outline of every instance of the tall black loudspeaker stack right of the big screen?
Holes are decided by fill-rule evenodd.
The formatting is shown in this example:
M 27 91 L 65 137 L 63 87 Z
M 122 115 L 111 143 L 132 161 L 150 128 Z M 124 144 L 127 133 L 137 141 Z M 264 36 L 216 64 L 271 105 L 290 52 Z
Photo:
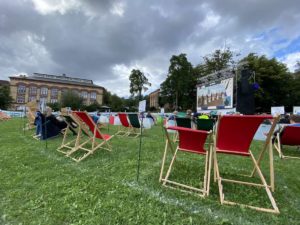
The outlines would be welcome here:
M 249 69 L 241 71 L 241 79 L 237 85 L 237 107 L 241 114 L 252 115 L 255 113 L 254 90 L 249 83 L 252 72 Z

